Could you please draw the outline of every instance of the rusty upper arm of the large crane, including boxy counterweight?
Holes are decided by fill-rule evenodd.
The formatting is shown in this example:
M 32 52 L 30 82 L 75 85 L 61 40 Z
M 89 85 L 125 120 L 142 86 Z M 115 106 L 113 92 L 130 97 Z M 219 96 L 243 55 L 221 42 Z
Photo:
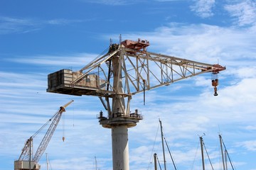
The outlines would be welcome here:
M 132 44 L 132 45 L 131 45 Z M 207 64 L 169 55 L 146 51 L 149 42 L 146 40 L 124 40 L 120 45 L 110 45 L 107 54 L 97 57 L 78 72 L 62 69 L 48 75 L 48 92 L 70 95 L 88 95 L 105 97 L 109 116 L 109 98 L 116 94 L 127 97 L 126 113 L 129 113 L 129 102 L 134 94 L 139 94 L 160 86 L 173 84 L 176 81 L 195 77 L 199 74 L 225 70 L 219 64 Z M 118 60 L 114 68 L 114 60 Z M 122 75 L 122 91 L 114 87 L 114 69 Z M 101 100 L 102 101 L 102 100 Z

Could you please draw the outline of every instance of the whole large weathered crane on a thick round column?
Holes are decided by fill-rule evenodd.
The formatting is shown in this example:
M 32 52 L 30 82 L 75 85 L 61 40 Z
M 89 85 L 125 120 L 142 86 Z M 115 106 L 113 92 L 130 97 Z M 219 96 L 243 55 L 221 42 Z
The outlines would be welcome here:
M 100 125 L 112 129 L 114 170 L 129 170 L 128 128 L 142 120 L 137 109 L 130 111 L 132 96 L 207 72 L 214 75 L 217 96 L 217 75 L 225 70 L 219 64 L 148 52 L 148 46 L 147 40 L 120 40 L 77 72 L 61 69 L 48 74 L 48 92 L 100 98 L 107 111 L 106 116 L 100 111 Z

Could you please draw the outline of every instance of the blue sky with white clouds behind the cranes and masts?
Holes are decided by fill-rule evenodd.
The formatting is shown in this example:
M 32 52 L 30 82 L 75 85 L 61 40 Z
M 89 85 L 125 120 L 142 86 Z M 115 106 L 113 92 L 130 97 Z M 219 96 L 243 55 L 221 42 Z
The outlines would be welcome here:
M 120 34 L 149 40 L 151 52 L 227 67 L 218 97 L 210 74 L 147 91 L 146 106 L 142 94 L 133 97 L 131 109 L 144 120 L 129 129 L 130 169 L 154 169 L 154 152 L 162 160 L 159 118 L 178 169 L 201 169 L 203 133 L 215 169 L 221 169 L 219 133 L 235 169 L 256 169 L 255 0 L 1 0 L 1 170 L 14 169 L 28 137 L 71 99 L 46 149 L 51 166 L 95 169 L 97 157 L 99 169 L 112 169 L 111 132 L 96 119 L 104 109 L 100 100 L 46 89 L 48 74 L 81 69 Z M 39 164 L 46 169 L 45 154 Z M 170 157 L 167 167 L 173 169 Z

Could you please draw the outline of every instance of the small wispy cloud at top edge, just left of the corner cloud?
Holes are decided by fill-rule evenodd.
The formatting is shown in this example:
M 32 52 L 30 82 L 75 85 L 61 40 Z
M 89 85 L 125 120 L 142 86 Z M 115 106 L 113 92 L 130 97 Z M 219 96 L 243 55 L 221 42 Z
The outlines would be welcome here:
M 191 6 L 191 10 L 196 12 L 196 15 L 201 18 L 213 16 L 213 7 L 215 0 L 194 0 L 195 4 Z

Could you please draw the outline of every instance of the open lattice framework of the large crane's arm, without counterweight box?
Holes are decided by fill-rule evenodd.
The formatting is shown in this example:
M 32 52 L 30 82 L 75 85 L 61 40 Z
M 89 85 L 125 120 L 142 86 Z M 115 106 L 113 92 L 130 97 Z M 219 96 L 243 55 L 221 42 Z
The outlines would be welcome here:
M 97 57 L 95 60 L 80 69 L 82 76 L 75 79 L 71 84 L 75 86 L 85 79 L 88 74 L 96 74 L 99 83 L 97 96 L 117 94 L 112 86 L 112 60 L 119 57 L 119 67 L 122 70 L 122 86 L 124 96 L 131 96 L 143 91 L 172 84 L 181 79 L 194 77 L 206 72 L 218 73 L 225 69 L 218 64 L 206 64 L 192 60 L 160 55 L 154 52 L 132 50 L 119 47 L 108 52 L 106 55 Z M 106 88 L 100 87 L 100 80 L 105 81 Z

